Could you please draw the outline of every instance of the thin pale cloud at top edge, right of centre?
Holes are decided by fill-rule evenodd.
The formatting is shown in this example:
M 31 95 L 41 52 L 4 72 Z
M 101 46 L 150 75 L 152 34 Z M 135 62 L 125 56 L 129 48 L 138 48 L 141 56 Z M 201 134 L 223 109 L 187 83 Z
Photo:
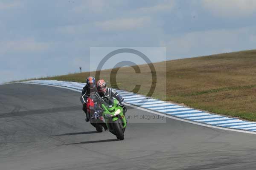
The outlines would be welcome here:
M 165 11 L 170 11 L 174 6 L 175 6 L 175 1 L 168 0 L 168 1 L 163 1 L 163 3 L 158 3 L 155 6 L 139 8 L 137 11 L 143 12 L 143 13 L 165 12 Z

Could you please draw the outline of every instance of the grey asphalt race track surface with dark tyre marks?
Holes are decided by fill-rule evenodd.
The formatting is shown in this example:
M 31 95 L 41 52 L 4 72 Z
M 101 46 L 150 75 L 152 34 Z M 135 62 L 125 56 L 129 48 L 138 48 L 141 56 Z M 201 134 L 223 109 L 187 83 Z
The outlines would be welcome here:
M 256 169 L 253 134 L 166 119 L 130 123 L 125 140 L 116 141 L 84 121 L 79 95 L 44 85 L 0 85 L 0 170 Z

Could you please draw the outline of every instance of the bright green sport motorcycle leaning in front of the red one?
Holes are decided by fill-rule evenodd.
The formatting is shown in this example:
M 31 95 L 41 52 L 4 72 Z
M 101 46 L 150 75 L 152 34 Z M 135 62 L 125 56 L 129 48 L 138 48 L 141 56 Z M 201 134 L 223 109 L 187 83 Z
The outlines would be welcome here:
M 119 140 L 124 140 L 124 132 L 126 127 L 125 112 L 126 108 L 119 104 L 116 99 L 107 99 L 102 102 L 102 117 L 108 130 L 116 135 Z

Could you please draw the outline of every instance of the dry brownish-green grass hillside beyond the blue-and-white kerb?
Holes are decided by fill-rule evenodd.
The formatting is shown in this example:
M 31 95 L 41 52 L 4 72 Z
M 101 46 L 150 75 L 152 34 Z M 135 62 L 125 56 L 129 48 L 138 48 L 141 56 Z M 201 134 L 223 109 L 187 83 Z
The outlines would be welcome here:
M 256 121 L 256 50 L 177 59 L 154 63 L 154 66 L 157 89 L 152 97 Z M 117 83 L 112 86 L 131 91 L 139 84 L 138 93 L 147 94 L 151 71 L 147 65 L 140 65 L 140 69 L 142 73 L 138 75 L 131 67 L 120 68 Z M 101 75 L 108 85 L 110 73 L 111 70 L 104 70 Z M 89 75 L 95 72 L 42 79 L 84 82 Z

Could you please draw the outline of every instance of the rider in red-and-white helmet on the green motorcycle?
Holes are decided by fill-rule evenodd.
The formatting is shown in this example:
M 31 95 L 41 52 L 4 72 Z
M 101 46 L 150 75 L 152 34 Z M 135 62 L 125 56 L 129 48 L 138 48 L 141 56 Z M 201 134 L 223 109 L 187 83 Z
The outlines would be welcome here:
M 107 88 L 107 84 L 103 79 L 100 79 L 99 81 L 97 81 L 96 88 L 97 88 L 97 93 L 93 94 L 92 96 L 94 101 L 94 110 L 95 110 L 95 113 L 93 113 L 92 118 L 99 118 L 102 115 L 102 108 L 101 108 L 102 101 L 106 99 L 113 99 L 113 97 L 117 99 L 119 102 L 119 105 L 123 107 L 123 113 L 126 112 L 126 108 L 123 103 L 124 99 L 122 98 L 122 96 L 120 96 L 115 90 L 113 90 L 113 88 Z M 98 119 L 98 122 L 102 124 L 103 121 L 101 119 Z M 103 127 L 106 130 L 106 126 L 103 125 Z

